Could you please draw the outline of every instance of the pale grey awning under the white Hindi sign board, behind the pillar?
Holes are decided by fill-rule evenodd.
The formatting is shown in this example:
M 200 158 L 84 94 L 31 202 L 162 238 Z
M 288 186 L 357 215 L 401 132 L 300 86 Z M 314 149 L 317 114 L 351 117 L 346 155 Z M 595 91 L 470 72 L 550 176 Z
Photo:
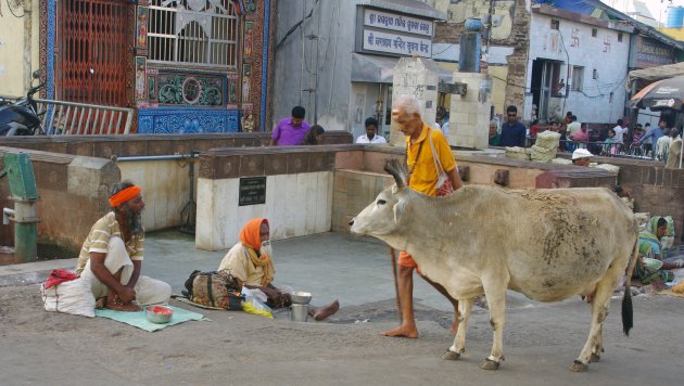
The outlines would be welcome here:
M 367 83 L 392 83 L 394 66 L 400 57 L 352 53 L 352 81 Z M 451 83 L 454 73 L 436 66 L 440 70 L 440 81 Z

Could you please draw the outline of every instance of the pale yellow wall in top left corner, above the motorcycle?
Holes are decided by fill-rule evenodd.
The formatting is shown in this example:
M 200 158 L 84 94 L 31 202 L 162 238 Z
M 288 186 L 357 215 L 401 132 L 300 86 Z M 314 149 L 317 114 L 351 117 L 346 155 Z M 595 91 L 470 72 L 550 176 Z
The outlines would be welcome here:
M 39 53 L 39 11 L 38 0 L 25 1 L 25 15 L 17 18 L 2 2 L 0 16 L 0 95 L 21 97 L 30 87 L 29 73 L 40 67 Z M 30 54 L 26 54 L 24 30 L 30 24 Z

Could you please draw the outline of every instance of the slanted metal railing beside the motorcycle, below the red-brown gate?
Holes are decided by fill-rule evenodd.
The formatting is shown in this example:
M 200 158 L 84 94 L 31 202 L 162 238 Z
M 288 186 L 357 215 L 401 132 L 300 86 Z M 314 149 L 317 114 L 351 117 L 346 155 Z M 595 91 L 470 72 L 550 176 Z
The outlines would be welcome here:
M 42 130 L 48 136 L 129 134 L 134 110 L 36 99 Z

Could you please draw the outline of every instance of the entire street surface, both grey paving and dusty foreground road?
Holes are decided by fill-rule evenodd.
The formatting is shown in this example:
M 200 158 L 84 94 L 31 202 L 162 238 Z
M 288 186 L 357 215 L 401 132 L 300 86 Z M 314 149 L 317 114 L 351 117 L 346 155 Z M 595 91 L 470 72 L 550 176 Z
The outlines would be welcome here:
M 178 292 L 192 269 L 214 269 L 221 252 L 193 248 L 191 237 L 170 232 L 148 236 L 144 273 Z M 579 297 L 541 305 L 509 297 L 506 361 L 497 372 L 478 369 L 489 355 L 487 313 L 477 308 L 468 350 L 443 361 L 451 345 L 452 313 L 422 281 L 416 297 L 420 337 L 388 338 L 396 323 L 388 247 L 377 241 L 325 233 L 274 243 L 276 284 L 307 290 L 314 304 L 339 298 L 327 322 L 290 322 L 243 312 L 206 311 L 211 322 L 188 322 L 148 333 L 100 318 L 48 313 L 36 284 L 53 260 L 0 267 L 0 371 L 8 385 L 674 385 L 681 381 L 684 299 L 634 298 L 635 329 L 621 333 L 619 299 L 604 329 L 606 352 L 585 374 L 567 370 L 588 332 L 588 307 Z M 33 267 L 33 268 L 31 268 Z M 38 271 L 38 273 L 24 272 Z M 41 280 L 41 279 L 40 279 Z M 174 305 L 188 306 L 174 301 Z

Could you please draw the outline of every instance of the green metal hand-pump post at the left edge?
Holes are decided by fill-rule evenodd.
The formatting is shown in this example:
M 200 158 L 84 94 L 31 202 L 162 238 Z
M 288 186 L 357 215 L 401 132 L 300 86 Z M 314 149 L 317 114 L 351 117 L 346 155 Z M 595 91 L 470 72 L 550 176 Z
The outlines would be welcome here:
M 5 153 L 4 168 L 14 209 L 2 208 L 2 223 L 14 221 L 14 257 L 18 262 L 36 261 L 38 255 L 38 190 L 27 153 Z

